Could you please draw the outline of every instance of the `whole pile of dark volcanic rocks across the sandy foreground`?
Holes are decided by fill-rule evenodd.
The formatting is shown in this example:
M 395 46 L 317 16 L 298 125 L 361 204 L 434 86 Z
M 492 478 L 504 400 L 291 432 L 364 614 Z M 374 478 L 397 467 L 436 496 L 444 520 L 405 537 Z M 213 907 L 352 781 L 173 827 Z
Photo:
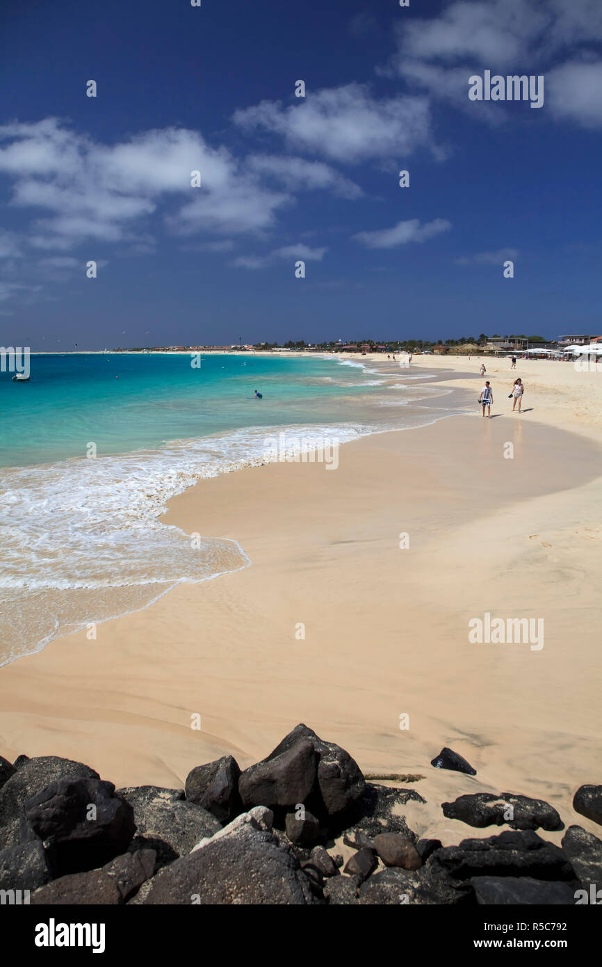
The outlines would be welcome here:
M 451 749 L 436 768 L 472 776 Z M 185 789 L 116 790 L 69 759 L 0 757 L 0 890 L 61 904 L 573 904 L 602 884 L 602 841 L 540 800 L 476 793 L 449 819 L 498 835 L 443 847 L 408 826 L 413 789 L 366 782 L 345 749 L 298 725 L 243 772 L 231 755 Z M 602 824 L 602 786 L 574 808 Z M 336 852 L 342 840 L 348 859 Z M 353 850 L 349 855 L 350 849 Z

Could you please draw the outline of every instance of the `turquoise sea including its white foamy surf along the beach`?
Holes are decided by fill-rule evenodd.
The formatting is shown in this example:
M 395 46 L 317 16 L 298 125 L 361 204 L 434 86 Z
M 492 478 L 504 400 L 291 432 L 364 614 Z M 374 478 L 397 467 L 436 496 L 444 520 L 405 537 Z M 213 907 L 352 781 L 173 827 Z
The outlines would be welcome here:
M 0 373 L 0 664 L 249 566 L 238 542 L 192 547 L 158 517 L 203 478 L 268 462 L 275 434 L 344 444 L 450 412 L 422 368 L 329 357 L 32 355 L 30 371 Z

